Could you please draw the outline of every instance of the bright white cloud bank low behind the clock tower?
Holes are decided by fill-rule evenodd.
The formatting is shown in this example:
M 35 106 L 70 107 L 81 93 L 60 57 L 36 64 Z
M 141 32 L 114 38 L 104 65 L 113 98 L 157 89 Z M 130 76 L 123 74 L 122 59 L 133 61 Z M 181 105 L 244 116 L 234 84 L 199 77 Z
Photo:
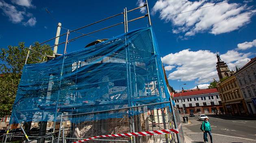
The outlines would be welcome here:
M 234 50 L 228 50 L 220 55 L 230 70 L 235 70 L 235 65 L 241 67 L 247 63 L 250 53 L 239 53 Z M 171 53 L 162 57 L 162 62 L 167 66 L 176 66 L 168 75 L 169 80 L 192 81 L 196 84 L 209 83 L 213 78 L 219 79 L 216 70 L 216 54 L 209 50 L 191 51 L 190 49 L 182 50 L 178 53 Z

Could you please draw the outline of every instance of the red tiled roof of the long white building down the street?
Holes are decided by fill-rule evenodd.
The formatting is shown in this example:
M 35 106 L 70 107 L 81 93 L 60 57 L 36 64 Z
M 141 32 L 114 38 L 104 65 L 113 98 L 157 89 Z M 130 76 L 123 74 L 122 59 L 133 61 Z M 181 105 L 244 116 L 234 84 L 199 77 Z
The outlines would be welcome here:
M 218 93 L 217 88 L 211 88 L 211 89 L 200 89 L 196 91 L 189 91 L 181 93 L 181 96 L 191 96 L 191 95 L 204 95 L 208 93 Z M 180 93 L 175 93 L 174 97 L 180 97 Z

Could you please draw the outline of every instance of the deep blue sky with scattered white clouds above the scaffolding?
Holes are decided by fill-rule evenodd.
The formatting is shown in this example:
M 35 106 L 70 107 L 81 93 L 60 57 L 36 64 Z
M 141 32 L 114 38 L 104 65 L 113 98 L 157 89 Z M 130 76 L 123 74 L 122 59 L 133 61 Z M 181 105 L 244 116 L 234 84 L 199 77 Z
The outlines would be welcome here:
M 0 48 L 25 42 L 43 42 L 61 33 L 143 5 L 144 0 L 0 0 Z M 228 67 L 242 67 L 256 56 L 256 2 L 253 0 L 148 0 L 154 29 L 169 84 L 175 90 L 207 88 L 216 71 L 216 53 Z M 195 11 L 192 11 L 195 10 Z M 128 13 L 128 20 L 145 15 L 142 8 Z M 71 33 L 80 36 L 122 22 L 120 15 Z M 128 24 L 129 31 L 147 27 L 148 19 Z M 67 52 L 88 43 L 124 33 L 118 25 L 72 41 Z M 60 42 L 65 41 L 65 36 Z M 48 42 L 53 45 L 54 41 Z M 64 46 L 58 48 L 63 53 Z M 182 85 L 186 84 L 186 85 Z

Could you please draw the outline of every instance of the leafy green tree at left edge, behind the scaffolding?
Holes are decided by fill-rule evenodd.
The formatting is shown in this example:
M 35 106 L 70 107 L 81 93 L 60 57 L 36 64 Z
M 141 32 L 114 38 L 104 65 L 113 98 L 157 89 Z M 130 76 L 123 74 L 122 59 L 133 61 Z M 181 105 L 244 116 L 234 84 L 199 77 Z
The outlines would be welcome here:
M 46 44 L 41 46 L 38 42 L 34 45 L 36 45 L 33 47 L 35 51 L 50 47 Z M 25 47 L 24 42 L 20 42 L 18 46 L 0 49 L 0 117 L 11 114 L 27 53 L 28 47 Z M 27 64 L 38 63 L 46 59 L 41 54 L 52 55 L 52 49 L 31 55 Z

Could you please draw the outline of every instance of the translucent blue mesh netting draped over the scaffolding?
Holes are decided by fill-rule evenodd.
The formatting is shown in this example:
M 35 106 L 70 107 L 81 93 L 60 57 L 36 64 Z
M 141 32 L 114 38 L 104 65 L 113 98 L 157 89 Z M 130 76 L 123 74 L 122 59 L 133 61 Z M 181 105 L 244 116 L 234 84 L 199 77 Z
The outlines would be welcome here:
M 12 117 L 15 114 L 19 122 L 53 121 L 59 120 L 61 113 L 79 114 L 168 100 L 156 38 L 152 27 L 147 27 L 47 62 L 25 65 Z M 98 114 L 97 120 L 112 116 L 116 117 L 117 112 Z M 17 121 L 14 119 L 12 122 Z M 87 119 L 93 120 L 90 116 Z

